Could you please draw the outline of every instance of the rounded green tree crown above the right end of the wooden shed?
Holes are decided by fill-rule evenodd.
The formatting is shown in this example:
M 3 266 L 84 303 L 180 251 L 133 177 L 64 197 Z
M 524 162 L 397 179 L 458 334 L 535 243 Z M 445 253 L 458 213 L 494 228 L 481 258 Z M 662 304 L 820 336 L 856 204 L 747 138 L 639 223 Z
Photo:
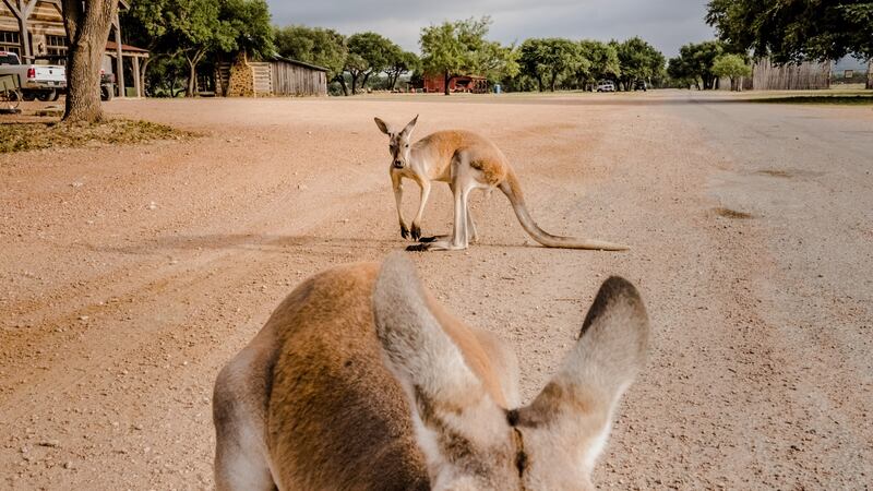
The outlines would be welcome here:
M 327 69 L 327 80 L 342 75 L 348 48 L 346 38 L 333 29 L 291 25 L 274 29 L 279 56 Z

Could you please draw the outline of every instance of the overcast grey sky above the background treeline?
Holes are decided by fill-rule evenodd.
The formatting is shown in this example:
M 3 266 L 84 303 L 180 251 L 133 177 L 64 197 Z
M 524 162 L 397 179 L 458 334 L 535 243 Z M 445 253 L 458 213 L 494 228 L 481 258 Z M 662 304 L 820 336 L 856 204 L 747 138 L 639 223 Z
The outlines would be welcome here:
M 641 36 L 667 57 L 685 43 L 714 37 L 703 21 L 706 0 L 267 0 L 273 22 L 331 27 L 343 34 L 374 31 L 418 52 L 421 27 L 491 15 L 489 37 L 609 40 Z

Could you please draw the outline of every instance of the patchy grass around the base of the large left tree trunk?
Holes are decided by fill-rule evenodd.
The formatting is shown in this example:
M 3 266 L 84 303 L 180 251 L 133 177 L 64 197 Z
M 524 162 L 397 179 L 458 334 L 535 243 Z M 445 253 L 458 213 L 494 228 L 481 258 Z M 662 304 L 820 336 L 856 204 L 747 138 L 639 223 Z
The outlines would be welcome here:
M 0 154 L 41 148 L 129 144 L 154 140 L 186 140 L 195 133 L 150 121 L 111 119 L 100 123 L 0 123 Z

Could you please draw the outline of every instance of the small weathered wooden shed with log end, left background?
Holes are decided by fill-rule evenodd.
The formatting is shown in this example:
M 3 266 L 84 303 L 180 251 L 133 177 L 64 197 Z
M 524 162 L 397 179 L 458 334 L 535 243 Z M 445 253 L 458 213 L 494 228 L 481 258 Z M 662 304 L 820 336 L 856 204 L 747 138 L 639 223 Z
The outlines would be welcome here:
M 327 69 L 280 57 L 248 61 L 241 55 L 218 63 L 215 80 L 216 95 L 225 97 L 327 95 Z

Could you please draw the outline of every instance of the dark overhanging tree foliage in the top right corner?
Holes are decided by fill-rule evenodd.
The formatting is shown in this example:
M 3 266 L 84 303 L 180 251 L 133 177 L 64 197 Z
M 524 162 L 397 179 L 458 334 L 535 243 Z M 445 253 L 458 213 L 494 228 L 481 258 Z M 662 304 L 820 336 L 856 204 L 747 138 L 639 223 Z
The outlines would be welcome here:
M 846 55 L 873 61 L 869 0 L 710 0 L 706 22 L 722 40 L 776 64 Z M 868 68 L 868 88 L 873 88 L 873 64 Z

